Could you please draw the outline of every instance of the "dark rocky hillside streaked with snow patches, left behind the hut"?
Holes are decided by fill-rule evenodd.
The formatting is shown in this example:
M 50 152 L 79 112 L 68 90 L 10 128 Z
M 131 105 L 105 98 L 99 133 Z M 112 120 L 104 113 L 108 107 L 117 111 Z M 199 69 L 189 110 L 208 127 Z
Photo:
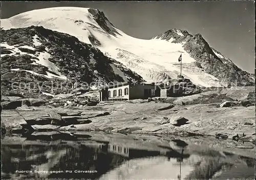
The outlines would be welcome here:
M 1 30 L 1 34 L 3 95 L 13 89 L 27 96 L 65 93 L 76 81 L 88 89 L 109 82 L 143 81 L 120 62 L 68 34 L 33 26 Z

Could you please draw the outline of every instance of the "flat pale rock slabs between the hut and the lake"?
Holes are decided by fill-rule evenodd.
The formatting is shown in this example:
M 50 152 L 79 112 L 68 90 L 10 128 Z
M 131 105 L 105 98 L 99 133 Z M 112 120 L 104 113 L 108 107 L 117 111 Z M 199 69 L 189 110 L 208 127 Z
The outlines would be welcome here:
M 3 97 L 2 134 L 37 131 L 166 133 L 215 136 L 255 144 L 254 87 L 208 91 L 179 98 L 100 103 L 82 102 L 81 99 L 86 98 L 66 95 L 66 98 L 54 97 L 47 101 Z

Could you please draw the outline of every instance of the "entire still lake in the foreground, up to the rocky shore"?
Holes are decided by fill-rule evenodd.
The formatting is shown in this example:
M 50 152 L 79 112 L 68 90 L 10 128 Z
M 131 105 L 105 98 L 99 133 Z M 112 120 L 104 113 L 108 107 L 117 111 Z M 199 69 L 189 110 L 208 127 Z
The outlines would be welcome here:
M 2 179 L 254 179 L 253 150 L 236 143 L 89 132 L 5 136 Z

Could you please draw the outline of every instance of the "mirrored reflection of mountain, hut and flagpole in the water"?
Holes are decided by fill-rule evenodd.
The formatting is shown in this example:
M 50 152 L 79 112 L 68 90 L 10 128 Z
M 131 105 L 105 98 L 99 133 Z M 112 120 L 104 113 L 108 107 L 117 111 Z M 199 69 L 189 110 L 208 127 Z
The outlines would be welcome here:
M 150 149 L 90 138 L 74 134 L 40 135 L 27 137 L 30 144 L 2 145 L 2 178 L 226 179 L 243 178 L 244 172 L 247 178 L 254 177 L 254 159 L 234 158 L 231 153 L 221 156 L 212 151 L 191 154 L 188 144 L 181 140 L 170 141 L 170 147 Z

